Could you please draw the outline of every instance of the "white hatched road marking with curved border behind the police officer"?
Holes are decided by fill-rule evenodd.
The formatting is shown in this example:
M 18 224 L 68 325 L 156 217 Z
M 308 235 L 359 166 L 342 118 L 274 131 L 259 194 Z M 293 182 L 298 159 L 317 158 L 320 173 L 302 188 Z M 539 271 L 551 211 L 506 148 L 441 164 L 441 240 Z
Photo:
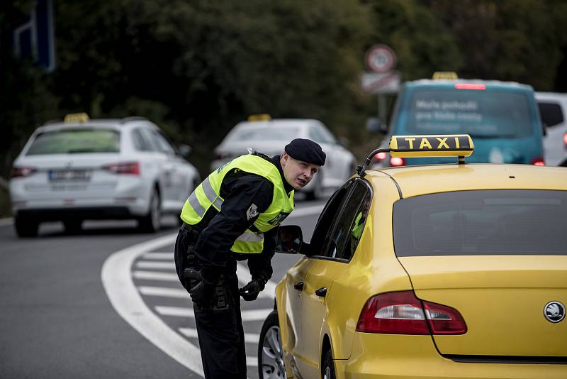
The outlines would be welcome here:
M 292 216 L 306 216 L 308 214 L 320 213 L 324 205 L 316 205 L 296 209 Z M 164 315 L 168 312 L 172 315 L 176 312 L 183 317 L 194 317 L 193 309 L 189 307 L 154 307 L 152 312 L 142 295 L 152 297 L 180 298 L 190 301 L 189 295 L 182 289 L 172 287 L 140 286 L 136 287 L 133 280 L 156 280 L 158 282 L 179 283 L 177 274 L 174 270 L 173 252 L 164 252 L 164 246 L 171 246 L 176 239 L 177 232 L 155 238 L 150 241 L 137 243 L 136 245 L 124 248 L 111 254 L 103 264 L 101 270 L 101 280 L 104 290 L 116 312 L 125 319 L 138 333 L 152 342 L 159 349 L 167 353 L 175 361 L 185 366 L 198 375 L 203 376 L 203 366 L 201 363 L 201 351 L 198 346 L 186 339 L 195 338 L 196 331 L 191 328 L 179 328 L 175 331 L 169 327 L 158 314 Z M 144 260 L 137 262 L 135 260 Z M 167 260 L 167 262 L 159 262 Z M 159 271 L 162 270 L 162 271 Z M 237 275 L 239 282 L 245 284 L 251 279 L 249 270 L 245 263 L 237 265 Z M 179 286 L 181 286 L 179 284 Z M 274 298 L 276 283 L 269 281 L 266 283 L 264 291 L 260 292 L 259 297 Z M 272 309 L 251 309 L 242 310 L 242 321 L 262 321 Z M 245 334 L 245 341 L 250 344 L 258 344 L 259 335 Z M 257 357 L 247 356 L 247 366 L 257 367 Z

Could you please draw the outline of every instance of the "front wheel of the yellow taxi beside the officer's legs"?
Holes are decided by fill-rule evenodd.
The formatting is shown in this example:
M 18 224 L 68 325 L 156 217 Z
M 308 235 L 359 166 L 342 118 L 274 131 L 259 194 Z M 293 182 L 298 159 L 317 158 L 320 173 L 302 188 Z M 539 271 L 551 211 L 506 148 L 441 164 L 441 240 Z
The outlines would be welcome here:
M 285 379 L 278 312 L 271 312 L 260 331 L 258 344 L 258 376 L 260 379 Z

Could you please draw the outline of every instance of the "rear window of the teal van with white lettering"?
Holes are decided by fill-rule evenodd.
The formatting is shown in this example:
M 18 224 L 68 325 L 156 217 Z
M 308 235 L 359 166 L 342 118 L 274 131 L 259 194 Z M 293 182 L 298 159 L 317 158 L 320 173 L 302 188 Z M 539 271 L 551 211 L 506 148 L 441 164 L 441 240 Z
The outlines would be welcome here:
M 473 138 L 532 135 L 524 94 L 497 90 L 421 89 L 408 106 L 407 128 L 415 134 L 461 134 Z

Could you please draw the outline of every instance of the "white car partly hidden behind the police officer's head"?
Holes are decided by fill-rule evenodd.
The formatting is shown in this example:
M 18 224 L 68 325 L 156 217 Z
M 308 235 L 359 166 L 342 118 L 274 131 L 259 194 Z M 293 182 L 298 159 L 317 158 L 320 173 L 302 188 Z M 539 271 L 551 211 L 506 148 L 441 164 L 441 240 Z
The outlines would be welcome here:
M 279 155 L 293 138 L 308 138 L 315 141 L 321 145 L 327 155 L 325 165 L 313 180 L 301 189 L 308 199 L 316 199 L 323 189 L 338 188 L 354 174 L 357 168 L 356 158 L 337 141 L 321 121 L 269 119 L 269 117 L 259 121 L 237 123 L 223 142 L 215 148 L 215 160 L 211 163 L 210 170 L 215 170 L 232 158 L 246 154 L 248 148 L 269 156 Z

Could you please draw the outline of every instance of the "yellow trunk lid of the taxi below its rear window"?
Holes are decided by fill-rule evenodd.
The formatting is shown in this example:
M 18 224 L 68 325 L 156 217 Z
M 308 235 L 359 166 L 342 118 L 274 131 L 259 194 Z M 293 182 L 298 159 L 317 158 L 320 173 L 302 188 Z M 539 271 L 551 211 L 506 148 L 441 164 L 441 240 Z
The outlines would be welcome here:
M 466 322 L 466 334 L 432 336 L 439 353 L 567 357 L 567 321 L 546 318 L 547 304 L 567 304 L 567 256 L 414 256 L 399 260 L 418 298 L 453 307 Z M 553 309 L 547 309 L 548 316 Z

